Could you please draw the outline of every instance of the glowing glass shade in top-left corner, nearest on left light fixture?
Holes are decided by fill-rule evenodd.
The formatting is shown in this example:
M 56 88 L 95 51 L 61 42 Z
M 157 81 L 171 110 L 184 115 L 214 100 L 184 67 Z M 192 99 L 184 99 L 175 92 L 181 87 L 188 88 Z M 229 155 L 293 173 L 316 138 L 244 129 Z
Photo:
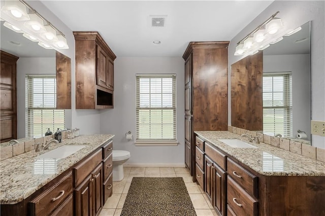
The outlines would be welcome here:
M 26 6 L 18 0 L 6 1 L 5 6 L 1 10 L 14 20 L 29 20 Z

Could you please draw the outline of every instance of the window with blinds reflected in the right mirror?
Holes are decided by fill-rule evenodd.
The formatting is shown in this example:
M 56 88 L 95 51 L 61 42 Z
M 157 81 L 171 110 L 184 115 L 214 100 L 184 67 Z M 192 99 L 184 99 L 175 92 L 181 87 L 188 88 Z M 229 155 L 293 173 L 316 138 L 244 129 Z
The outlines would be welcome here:
M 290 73 L 263 76 L 263 131 L 292 137 L 292 78 Z

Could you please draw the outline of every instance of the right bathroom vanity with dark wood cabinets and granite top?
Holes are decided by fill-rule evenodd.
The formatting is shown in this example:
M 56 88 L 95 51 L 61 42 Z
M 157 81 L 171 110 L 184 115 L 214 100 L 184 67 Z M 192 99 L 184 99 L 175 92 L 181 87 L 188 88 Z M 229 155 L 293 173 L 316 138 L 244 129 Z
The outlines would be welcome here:
M 325 214 L 324 162 L 263 142 L 234 148 L 220 139 L 248 141 L 229 131 L 195 133 L 195 176 L 219 214 Z

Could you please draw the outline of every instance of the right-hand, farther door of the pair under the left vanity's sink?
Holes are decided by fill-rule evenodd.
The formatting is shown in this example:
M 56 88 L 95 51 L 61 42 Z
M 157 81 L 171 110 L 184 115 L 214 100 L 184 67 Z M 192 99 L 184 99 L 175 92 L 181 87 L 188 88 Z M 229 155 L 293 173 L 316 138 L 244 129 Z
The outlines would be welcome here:
M 103 165 L 98 165 L 92 172 L 92 215 L 97 215 L 102 208 L 103 199 Z

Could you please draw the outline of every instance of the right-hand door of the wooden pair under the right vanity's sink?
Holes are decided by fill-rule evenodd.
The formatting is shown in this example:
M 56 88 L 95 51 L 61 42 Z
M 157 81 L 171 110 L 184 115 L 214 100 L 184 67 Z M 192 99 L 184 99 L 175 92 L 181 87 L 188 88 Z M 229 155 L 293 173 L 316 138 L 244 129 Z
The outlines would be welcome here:
M 226 200 L 225 200 L 225 179 L 226 172 L 223 171 L 217 164 L 213 164 L 214 181 L 213 181 L 213 207 L 219 211 L 221 215 L 225 214 Z

